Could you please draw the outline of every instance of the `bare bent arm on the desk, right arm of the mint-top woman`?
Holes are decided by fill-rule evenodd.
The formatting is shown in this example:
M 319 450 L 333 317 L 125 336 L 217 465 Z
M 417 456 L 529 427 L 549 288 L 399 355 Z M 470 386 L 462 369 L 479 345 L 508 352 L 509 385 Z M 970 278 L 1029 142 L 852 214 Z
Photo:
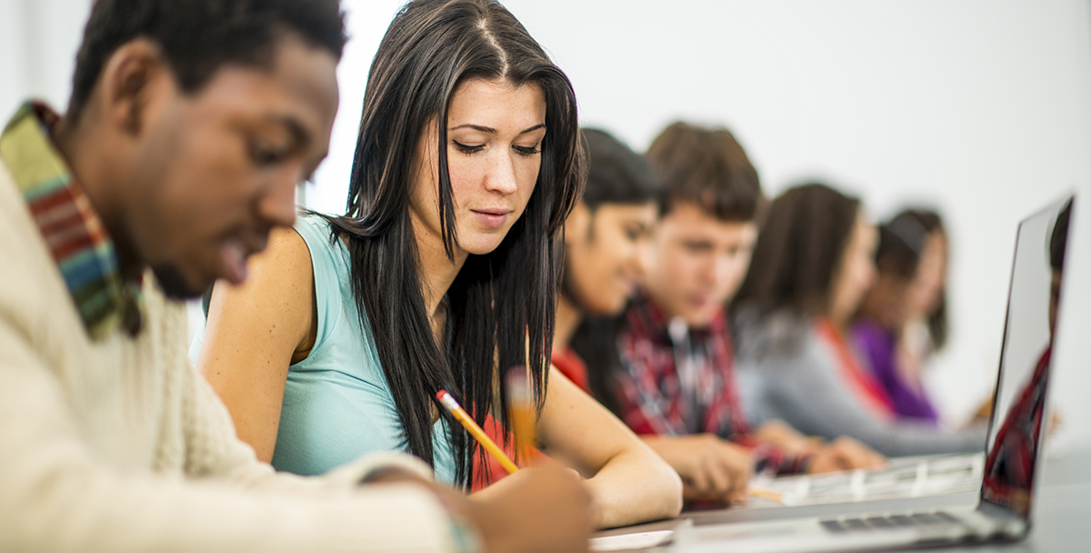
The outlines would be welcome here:
M 588 474 L 596 528 L 669 518 L 682 510 L 682 482 L 616 417 L 551 370 L 538 433 L 548 453 Z

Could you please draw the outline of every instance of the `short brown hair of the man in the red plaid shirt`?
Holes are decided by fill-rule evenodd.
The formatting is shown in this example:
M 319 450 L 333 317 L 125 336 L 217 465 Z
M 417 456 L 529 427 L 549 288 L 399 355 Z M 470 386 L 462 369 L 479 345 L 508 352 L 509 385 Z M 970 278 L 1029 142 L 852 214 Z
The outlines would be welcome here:
M 663 183 L 662 215 L 692 203 L 726 221 L 748 221 L 762 207 L 762 184 L 731 131 L 678 121 L 652 141 L 646 154 Z

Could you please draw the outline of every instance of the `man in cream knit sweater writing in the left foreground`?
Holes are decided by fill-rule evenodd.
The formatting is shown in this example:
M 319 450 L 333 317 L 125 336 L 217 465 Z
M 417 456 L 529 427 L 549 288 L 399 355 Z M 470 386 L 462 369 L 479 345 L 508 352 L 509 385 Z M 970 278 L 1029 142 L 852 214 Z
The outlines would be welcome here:
M 325 156 L 336 0 L 98 0 L 68 111 L 0 134 L 0 551 L 586 549 L 587 498 L 540 470 L 487 501 L 405 455 L 274 472 L 180 346 Z M 362 485 L 380 478 L 404 483 Z M 459 539 L 465 538 L 465 539 Z

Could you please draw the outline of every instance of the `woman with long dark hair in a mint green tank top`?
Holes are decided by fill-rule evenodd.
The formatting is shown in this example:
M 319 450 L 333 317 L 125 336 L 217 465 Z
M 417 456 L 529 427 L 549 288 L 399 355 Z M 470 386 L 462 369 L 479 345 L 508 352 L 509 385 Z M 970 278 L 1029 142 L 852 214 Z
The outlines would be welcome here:
M 591 524 L 678 514 L 670 468 L 549 373 L 577 121 L 567 77 L 499 3 L 401 9 L 369 74 L 348 213 L 274 235 L 251 281 L 212 296 L 197 364 L 259 458 L 315 474 L 407 450 L 467 486 L 480 446 L 435 394 L 507 425 L 502 371 L 529 360 L 538 436 L 590 476 Z

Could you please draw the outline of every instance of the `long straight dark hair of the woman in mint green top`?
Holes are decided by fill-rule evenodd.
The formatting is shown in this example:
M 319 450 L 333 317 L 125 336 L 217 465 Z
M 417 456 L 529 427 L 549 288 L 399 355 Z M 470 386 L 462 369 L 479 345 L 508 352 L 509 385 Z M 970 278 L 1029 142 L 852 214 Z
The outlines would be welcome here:
M 521 217 L 491 253 L 470 255 L 448 288 L 447 339 L 439 344 L 421 293 L 409 197 L 417 144 L 427 125 L 440 121 L 437 143 L 431 146 L 439 159 L 443 244 L 454 259 L 458 237 L 445 121 L 452 95 L 469 79 L 540 86 L 548 131 L 538 181 Z M 561 233 L 585 179 L 572 84 L 515 16 L 492 0 L 415 0 L 401 8 L 368 74 L 348 213 L 328 218 L 331 241 L 349 239 L 353 294 L 364 327 L 371 328 L 409 452 L 433 461 L 432 413 L 440 412 L 457 482 L 469 483 L 472 452 L 480 446 L 434 402 L 435 393 L 451 392 L 479 424 L 499 406 L 492 414 L 507 426 L 506 384 L 497 371 L 529 359 L 541 407 Z

